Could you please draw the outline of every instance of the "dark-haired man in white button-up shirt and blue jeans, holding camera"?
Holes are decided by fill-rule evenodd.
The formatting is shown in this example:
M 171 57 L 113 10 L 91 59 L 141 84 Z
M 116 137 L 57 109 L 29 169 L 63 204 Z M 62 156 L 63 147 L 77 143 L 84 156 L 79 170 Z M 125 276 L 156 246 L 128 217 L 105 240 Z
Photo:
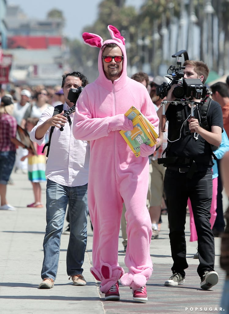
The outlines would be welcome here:
M 56 279 L 59 261 L 60 239 L 68 204 L 70 236 L 67 249 L 67 274 L 74 285 L 85 285 L 83 273 L 84 253 L 87 244 L 87 187 L 89 166 L 89 144 L 77 140 L 72 134 L 72 124 L 63 116 L 74 103 L 67 99 L 69 89 L 86 85 L 86 77 L 80 72 L 63 75 L 62 89 L 65 103 L 61 113 L 53 116 L 50 106 L 41 115 L 32 129 L 30 138 L 41 144 L 45 134 L 51 136 L 49 157 L 46 165 L 46 232 L 43 242 L 44 260 L 39 288 L 52 288 Z M 74 112 L 69 115 L 73 120 Z M 60 127 L 63 126 L 63 131 Z

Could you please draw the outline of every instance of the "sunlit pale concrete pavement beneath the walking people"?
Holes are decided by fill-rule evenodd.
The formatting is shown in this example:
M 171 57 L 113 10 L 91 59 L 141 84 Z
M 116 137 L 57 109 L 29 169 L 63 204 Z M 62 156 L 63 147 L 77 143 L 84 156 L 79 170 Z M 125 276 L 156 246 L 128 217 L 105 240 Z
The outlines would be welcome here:
M 53 289 L 37 289 L 41 282 L 43 261 L 43 238 L 45 234 L 45 207 L 27 208 L 32 203 L 33 191 L 27 174 L 13 173 L 14 185 L 8 185 L 8 202 L 16 211 L 0 211 L 0 313 L 217 313 L 220 308 L 224 272 L 219 266 L 220 238 L 215 238 L 215 270 L 219 283 L 211 290 L 200 289 L 196 272 L 199 260 L 193 259 L 197 242 L 189 242 L 189 216 L 186 223 L 187 260 L 184 285 L 164 286 L 171 275 L 172 258 L 168 238 L 167 216 L 162 216 L 160 238 L 151 242 L 151 257 L 154 265 L 152 277 L 147 282 L 148 302 L 136 303 L 128 287 L 120 286 L 120 301 L 104 301 L 99 292 L 99 283 L 91 275 L 93 231 L 88 223 L 88 244 L 83 264 L 86 286 L 73 286 L 66 273 L 68 235 L 61 237 L 61 252 L 58 274 Z M 45 183 L 42 184 L 45 204 Z M 89 220 L 88 220 L 89 222 Z M 122 238 L 119 242 L 119 263 L 124 264 Z M 202 308 L 202 309 L 201 309 Z M 217 310 L 216 310 L 217 309 Z

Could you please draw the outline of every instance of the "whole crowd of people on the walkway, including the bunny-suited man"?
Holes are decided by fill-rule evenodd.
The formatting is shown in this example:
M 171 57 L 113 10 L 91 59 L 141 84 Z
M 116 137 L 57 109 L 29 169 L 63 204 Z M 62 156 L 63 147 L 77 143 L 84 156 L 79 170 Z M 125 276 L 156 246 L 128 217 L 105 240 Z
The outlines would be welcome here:
M 129 78 L 125 39 L 114 26 L 109 25 L 108 30 L 111 39 L 105 41 L 99 35 L 83 33 L 86 44 L 99 48 L 99 76 L 94 82 L 88 84 L 83 73 L 73 71 L 63 73 L 60 86 L 1 90 L 0 209 L 15 210 L 6 200 L 13 168 L 28 171 L 34 202 L 27 207 L 43 207 L 40 182 L 47 181 L 47 225 L 39 288 L 54 287 L 68 206 L 70 235 L 66 264 L 72 283 L 86 285 L 82 266 L 89 212 L 93 226 L 90 271 L 100 282 L 105 300 L 120 299 L 121 282 L 131 288 L 133 300 L 145 303 L 146 283 L 152 275 L 150 244 L 160 235 L 163 213 L 168 213 L 173 259 L 172 275 L 164 284 L 185 282 L 188 263 L 184 230 L 189 204 L 191 241 L 198 242 L 200 287 L 211 289 L 218 282 L 214 236 L 220 234 L 224 239 L 221 263 L 228 272 L 225 266 L 228 235 L 223 233 L 221 194 L 222 188 L 229 185 L 228 177 L 222 174 L 222 165 L 228 171 L 228 164 L 225 165 L 229 154 L 228 86 L 221 82 L 213 84 L 209 87 L 212 96 L 207 100 L 193 96 L 184 105 L 173 95 L 177 86 L 174 84 L 161 99 L 156 89 L 167 78 L 155 76 L 150 80 L 142 72 Z M 184 62 L 184 79 L 200 79 L 205 84 L 208 74 L 204 62 Z M 83 90 L 77 101 L 70 101 L 69 90 L 80 87 Z M 164 112 L 162 100 L 167 104 Z M 141 111 L 159 135 L 153 147 L 140 145 L 137 158 L 119 133 L 133 130 L 132 121 L 125 116 L 130 106 Z M 165 126 L 162 114 L 167 120 Z M 29 147 L 18 138 L 17 126 L 30 135 Z M 226 192 L 229 196 L 228 189 Z M 120 223 L 127 272 L 118 262 Z M 228 286 L 228 273 L 225 285 Z M 228 306 L 226 298 L 225 294 L 224 308 Z

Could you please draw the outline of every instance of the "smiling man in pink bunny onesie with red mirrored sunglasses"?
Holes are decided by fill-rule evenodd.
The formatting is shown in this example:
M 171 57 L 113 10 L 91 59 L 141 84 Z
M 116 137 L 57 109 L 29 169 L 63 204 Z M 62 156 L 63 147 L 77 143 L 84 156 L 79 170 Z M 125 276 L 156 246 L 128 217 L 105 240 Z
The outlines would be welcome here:
M 74 137 L 90 141 L 91 273 L 101 281 L 105 300 L 119 300 L 120 279 L 124 286 L 132 288 L 134 300 L 146 302 L 146 281 L 152 274 L 149 252 L 152 226 L 146 207 L 148 156 L 155 146 L 141 144 L 140 156 L 136 158 L 119 131 L 133 129 L 132 121 L 124 115 L 131 106 L 141 111 L 156 131 L 159 119 L 145 86 L 127 76 L 125 39 L 114 26 L 109 25 L 108 30 L 112 39 L 104 42 L 99 35 L 83 33 L 86 44 L 100 48 L 99 77 L 83 89 L 73 120 Z M 123 202 L 128 236 L 125 274 L 118 263 Z

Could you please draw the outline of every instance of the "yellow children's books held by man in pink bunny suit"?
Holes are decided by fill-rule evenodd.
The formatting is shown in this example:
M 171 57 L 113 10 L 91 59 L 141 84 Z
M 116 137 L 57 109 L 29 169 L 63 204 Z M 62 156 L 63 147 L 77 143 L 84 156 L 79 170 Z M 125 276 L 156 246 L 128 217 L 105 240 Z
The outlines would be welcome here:
M 158 134 L 152 123 L 134 106 L 130 107 L 125 116 L 133 122 L 134 128 L 132 131 L 121 130 L 119 132 L 135 156 L 139 157 L 141 144 L 154 146 L 157 143 Z

